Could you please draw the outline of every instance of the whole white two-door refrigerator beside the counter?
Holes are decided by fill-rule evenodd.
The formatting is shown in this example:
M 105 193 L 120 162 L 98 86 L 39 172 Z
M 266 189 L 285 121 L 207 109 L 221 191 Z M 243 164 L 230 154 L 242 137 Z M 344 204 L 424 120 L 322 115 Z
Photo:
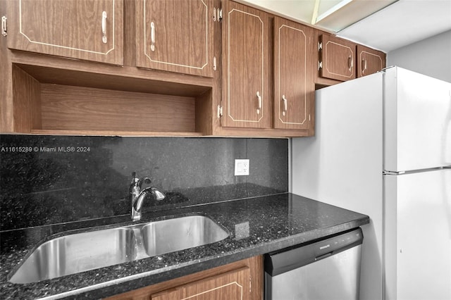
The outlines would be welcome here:
M 370 216 L 360 299 L 451 299 L 451 83 L 398 67 L 316 91 L 292 192 Z

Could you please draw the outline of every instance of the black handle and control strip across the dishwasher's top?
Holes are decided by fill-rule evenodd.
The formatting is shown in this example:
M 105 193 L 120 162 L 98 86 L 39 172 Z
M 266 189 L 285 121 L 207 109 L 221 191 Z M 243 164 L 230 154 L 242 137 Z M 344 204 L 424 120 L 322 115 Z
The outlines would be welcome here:
M 338 254 L 362 244 L 364 235 L 359 227 L 338 235 L 331 235 L 319 241 L 299 244 L 289 249 L 265 254 L 265 272 L 276 276 L 328 256 Z

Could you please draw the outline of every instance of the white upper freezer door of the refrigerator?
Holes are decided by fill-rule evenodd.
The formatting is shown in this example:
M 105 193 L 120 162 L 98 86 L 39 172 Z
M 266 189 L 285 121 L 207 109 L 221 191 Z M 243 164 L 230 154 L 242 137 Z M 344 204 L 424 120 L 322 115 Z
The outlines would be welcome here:
M 384 170 L 451 165 L 451 83 L 395 67 L 384 85 Z

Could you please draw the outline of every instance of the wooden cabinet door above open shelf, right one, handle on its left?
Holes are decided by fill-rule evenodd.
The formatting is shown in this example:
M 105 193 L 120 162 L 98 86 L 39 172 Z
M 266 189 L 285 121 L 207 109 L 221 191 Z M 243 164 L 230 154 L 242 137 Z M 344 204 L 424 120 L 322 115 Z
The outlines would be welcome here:
M 213 1 L 140 0 L 137 66 L 213 76 Z

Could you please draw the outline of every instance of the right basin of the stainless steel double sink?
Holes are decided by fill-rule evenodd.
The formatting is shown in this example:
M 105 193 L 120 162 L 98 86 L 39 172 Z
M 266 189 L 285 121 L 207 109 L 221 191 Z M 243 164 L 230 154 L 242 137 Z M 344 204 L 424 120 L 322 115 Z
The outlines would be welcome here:
M 203 215 L 162 220 L 142 227 L 142 241 L 148 256 L 211 244 L 226 237 L 226 230 Z

